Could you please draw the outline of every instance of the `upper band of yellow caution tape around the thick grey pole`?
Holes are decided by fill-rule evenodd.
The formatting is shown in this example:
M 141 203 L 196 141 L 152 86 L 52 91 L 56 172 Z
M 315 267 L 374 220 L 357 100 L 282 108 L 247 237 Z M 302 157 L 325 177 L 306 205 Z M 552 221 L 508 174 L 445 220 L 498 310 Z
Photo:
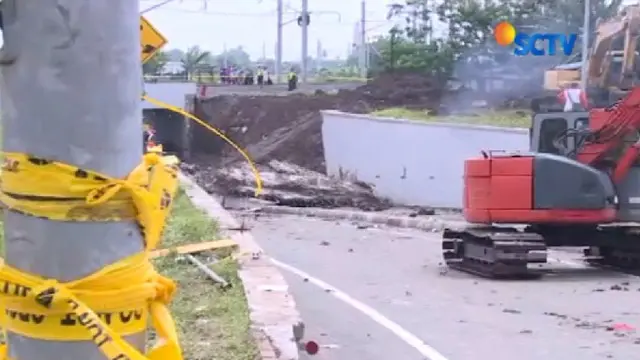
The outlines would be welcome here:
M 175 157 L 155 153 L 145 155 L 125 180 L 5 153 L 0 202 L 13 211 L 51 220 L 137 220 L 147 247 L 155 248 L 178 187 L 178 171 Z

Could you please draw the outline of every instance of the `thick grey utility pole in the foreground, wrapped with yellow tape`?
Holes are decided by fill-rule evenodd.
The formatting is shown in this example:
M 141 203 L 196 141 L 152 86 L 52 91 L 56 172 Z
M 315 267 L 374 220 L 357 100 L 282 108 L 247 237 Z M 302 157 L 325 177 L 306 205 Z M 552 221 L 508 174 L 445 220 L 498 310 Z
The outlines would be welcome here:
M 122 178 L 142 155 L 140 15 L 131 0 L 4 0 L 3 150 Z M 62 282 L 143 250 L 133 222 L 62 222 L 5 212 L 6 261 Z M 127 337 L 139 349 L 145 334 Z M 16 360 L 104 360 L 91 341 L 9 333 Z

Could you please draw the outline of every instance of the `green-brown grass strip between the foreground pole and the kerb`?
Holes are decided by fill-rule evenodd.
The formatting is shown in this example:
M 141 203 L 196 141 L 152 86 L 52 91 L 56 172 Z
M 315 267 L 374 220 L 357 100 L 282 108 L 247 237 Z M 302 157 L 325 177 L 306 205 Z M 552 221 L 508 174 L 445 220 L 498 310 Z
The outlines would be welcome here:
M 162 247 L 217 238 L 217 224 L 195 208 L 180 189 Z M 222 258 L 228 254 L 216 255 Z M 178 283 L 171 311 L 185 359 L 255 360 L 259 357 L 249 332 L 249 309 L 235 260 L 227 257 L 212 266 L 218 275 L 233 284 L 227 290 L 221 290 L 194 265 L 178 261 L 175 256 L 159 258 L 155 263 L 158 271 Z

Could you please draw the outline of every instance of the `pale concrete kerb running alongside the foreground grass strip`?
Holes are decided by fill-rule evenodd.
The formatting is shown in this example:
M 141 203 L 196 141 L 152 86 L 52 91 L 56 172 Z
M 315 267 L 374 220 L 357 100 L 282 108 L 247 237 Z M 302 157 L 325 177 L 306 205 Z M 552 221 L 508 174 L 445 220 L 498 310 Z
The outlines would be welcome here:
M 236 219 L 191 178 L 179 174 L 180 183 L 194 206 L 215 218 L 223 229 L 239 228 Z M 304 324 L 289 286 L 249 232 L 223 232 L 240 252 L 238 275 L 249 303 L 252 334 L 262 360 L 298 360 Z

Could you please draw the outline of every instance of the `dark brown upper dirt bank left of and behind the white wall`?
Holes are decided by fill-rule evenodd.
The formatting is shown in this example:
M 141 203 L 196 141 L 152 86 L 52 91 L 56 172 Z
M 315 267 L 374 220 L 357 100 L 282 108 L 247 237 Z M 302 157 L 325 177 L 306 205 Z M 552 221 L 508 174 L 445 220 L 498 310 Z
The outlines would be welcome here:
M 289 96 L 218 96 L 196 103 L 196 115 L 216 126 L 246 148 L 258 163 L 283 160 L 324 172 L 320 110 L 369 113 L 389 107 L 437 110 L 443 84 L 428 76 L 387 74 L 354 90 L 337 94 Z M 215 154 L 219 165 L 241 156 L 221 139 L 196 131 L 194 152 Z M 210 163 L 210 158 L 197 158 Z

